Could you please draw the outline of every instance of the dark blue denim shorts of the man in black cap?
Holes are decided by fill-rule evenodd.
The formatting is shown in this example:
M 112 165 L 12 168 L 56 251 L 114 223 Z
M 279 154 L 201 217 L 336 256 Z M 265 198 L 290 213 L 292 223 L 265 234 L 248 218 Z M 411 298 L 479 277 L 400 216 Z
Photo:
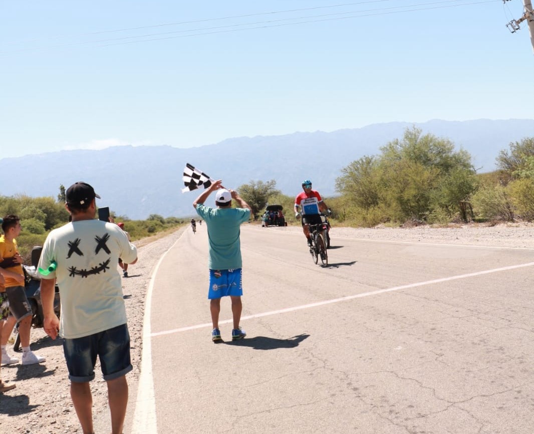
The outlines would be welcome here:
M 68 377 L 73 383 L 87 383 L 95 378 L 97 356 L 106 381 L 122 377 L 133 369 L 126 324 L 89 336 L 64 339 L 63 352 Z

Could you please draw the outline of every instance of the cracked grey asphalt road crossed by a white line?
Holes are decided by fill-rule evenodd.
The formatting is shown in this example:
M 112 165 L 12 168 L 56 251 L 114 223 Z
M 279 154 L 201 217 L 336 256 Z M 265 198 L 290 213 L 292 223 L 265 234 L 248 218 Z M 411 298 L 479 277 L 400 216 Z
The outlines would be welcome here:
M 534 432 L 532 250 L 333 237 L 324 268 L 244 225 L 247 337 L 223 299 L 214 344 L 197 227 L 148 294 L 133 432 Z

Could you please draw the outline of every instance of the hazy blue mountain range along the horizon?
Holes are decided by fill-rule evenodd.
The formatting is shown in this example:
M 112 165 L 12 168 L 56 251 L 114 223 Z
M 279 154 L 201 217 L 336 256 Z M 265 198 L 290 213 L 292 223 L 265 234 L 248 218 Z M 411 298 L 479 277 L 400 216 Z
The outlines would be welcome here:
M 0 159 L 0 195 L 57 197 L 60 185 L 83 180 L 117 215 L 146 219 L 194 215 L 199 190 L 182 193 L 182 173 L 191 163 L 227 188 L 250 181 L 276 180 L 284 194 L 296 195 L 303 179 L 311 179 L 323 196 L 335 195 L 341 169 L 364 155 L 379 155 L 380 147 L 402 139 L 407 128 L 447 138 L 472 156 L 477 172 L 496 169 L 499 152 L 509 144 L 534 136 L 534 120 L 474 120 L 424 123 L 391 122 L 333 132 L 295 132 L 282 136 L 239 137 L 194 148 L 116 146 L 99 151 L 50 152 Z M 16 180 L 10 182 L 9 180 Z M 208 200 L 207 203 L 210 203 Z

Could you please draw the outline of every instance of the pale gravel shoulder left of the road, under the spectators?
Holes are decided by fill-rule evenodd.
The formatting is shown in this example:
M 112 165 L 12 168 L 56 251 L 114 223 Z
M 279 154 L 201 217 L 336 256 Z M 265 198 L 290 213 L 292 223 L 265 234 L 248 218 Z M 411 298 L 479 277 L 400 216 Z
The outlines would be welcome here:
M 129 277 L 122 279 L 133 365 L 133 371 L 128 374 L 130 388 L 139 377 L 145 294 L 152 270 L 160 256 L 172 246 L 185 228 L 165 236 L 154 236 L 135 242 L 138 246 L 138 262 L 130 265 Z M 11 341 L 14 341 L 13 336 Z M 32 329 L 31 336 L 32 350 L 46 357 L 46 361 L 38 365 L 13 364 L 1 367 L 2 380 L 8 384 L 14 382 L 17 388 L 0 393 L 0 433 L 81 433 L 82 429 L 70 400 L 68 372 L 60 341 L 52 341 L 42 328 Z M 21 353 L 14 352 L 11 345 L 7 346 L 7 350 L 11 356 L 20 360 Z M 108 428 L 107 388 L 102 380 L 98 362 L 95 374 L 95 380 L 91 382 L 95 431 L 109 432 L 111 429 Z

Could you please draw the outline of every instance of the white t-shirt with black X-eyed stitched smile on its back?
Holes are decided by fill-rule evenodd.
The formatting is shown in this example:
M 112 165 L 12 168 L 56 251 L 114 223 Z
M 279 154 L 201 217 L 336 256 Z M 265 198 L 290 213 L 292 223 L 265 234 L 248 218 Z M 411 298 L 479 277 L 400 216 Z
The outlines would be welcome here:
M 88 336 L 127 322 L 119 258 L 135 261 L 137 249 L 114 223 L 81 220 L 50 232 L 38 267 L 57 264 L 42 278 L 57 278 L 61 337 Z

